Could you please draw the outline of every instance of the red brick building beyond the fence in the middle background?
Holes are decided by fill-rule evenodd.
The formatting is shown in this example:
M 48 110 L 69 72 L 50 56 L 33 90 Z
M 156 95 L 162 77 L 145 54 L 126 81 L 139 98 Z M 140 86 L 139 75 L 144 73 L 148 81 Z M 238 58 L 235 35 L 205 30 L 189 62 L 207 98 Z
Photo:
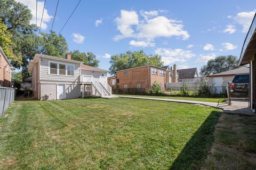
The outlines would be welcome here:
M 176 66 L 174 64 L 174 68 Z M 116 76 L 108 77 L 108 84 L 117 88 L 141 88 L 148 90 L 156 81 L 161 84 L 164 90 L 165 83 L 174 82 L 177 75 L 176 71 L 170 67 L 156 67 L 152 65 L 140 66 L 131 69 L 120 70 L 116 72 Z

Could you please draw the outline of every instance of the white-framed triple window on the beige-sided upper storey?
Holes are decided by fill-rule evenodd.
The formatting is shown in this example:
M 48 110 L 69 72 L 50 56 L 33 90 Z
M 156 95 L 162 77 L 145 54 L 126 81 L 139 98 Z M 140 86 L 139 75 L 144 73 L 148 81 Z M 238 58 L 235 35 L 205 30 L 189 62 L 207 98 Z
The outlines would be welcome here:
M 74 76 L 75 66 L 70 64 L 62 64 L 50 62 L 49 73 L 52 75 L 64 75 L 64 76 Z

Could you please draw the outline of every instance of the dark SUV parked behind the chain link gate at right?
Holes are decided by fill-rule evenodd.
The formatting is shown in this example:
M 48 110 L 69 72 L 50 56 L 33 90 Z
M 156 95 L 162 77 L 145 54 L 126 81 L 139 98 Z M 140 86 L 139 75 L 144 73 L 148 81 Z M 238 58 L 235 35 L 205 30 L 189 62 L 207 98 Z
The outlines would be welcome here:
M 236 74 L 231 83 L 231 90 L 233 92 L 247 92 L 249 90 L 249 82 L 249 74 Z

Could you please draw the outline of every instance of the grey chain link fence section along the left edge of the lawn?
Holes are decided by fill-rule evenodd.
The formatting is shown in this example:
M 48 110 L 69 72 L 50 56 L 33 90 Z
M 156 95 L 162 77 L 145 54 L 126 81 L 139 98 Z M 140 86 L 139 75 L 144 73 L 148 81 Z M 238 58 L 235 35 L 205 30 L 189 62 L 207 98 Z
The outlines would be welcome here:
M 0 87 L 0 116 L 10 107 L 15 98 L 15 89 Z

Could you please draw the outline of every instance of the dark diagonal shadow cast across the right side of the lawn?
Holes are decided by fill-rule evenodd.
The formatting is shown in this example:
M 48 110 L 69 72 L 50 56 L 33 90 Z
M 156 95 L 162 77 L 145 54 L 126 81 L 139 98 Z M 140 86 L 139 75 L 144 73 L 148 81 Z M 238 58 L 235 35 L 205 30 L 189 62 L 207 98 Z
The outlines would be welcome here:
M 204 123 L 187 142 L 179 156 L 174 160 L 173 169 L 201 169 L 213 143 L 215 125 L 218 123 L 220 111 L 212 111 Z

